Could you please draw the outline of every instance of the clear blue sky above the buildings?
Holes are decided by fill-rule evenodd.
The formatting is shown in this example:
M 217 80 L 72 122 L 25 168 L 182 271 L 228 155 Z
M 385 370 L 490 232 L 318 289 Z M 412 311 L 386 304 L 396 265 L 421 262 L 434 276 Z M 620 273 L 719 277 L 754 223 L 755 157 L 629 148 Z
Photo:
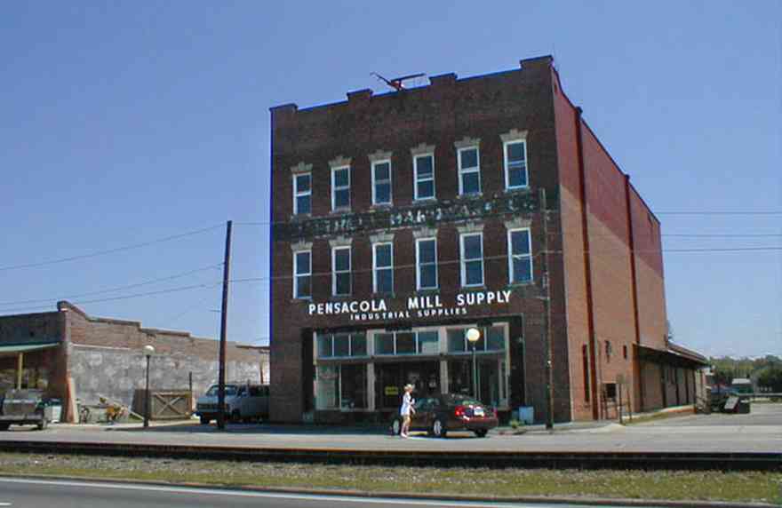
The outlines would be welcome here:
M 227 219 L 232 277 L 267 277 L 268 227 L 240 223 L 268 221 L 269 107 L 553 54 L 662 221 L 676 339 L 782 354 L 782 214 L 759 213 L 782 210 L 782 3 L 641 5 L 4 3 L 0 314 L 68 298 L 218 337 Z M 232 286 L 231 339 L 268 337 L 267 290 Z

